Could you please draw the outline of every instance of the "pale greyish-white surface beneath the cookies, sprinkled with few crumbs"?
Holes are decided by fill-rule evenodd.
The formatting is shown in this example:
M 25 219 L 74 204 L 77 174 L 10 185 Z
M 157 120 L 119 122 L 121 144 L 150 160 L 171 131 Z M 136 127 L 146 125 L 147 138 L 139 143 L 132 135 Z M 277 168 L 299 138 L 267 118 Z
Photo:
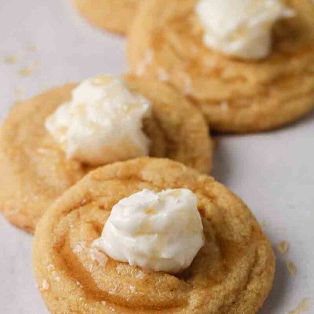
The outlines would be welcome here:
M 87 25 L 68 1 L 0 1 L 0 119 L 17 98 L 126 71 L 124 39 Z M 3 62 L 12 54 L 19 56 L 16 64 Z M 32 76 L 19 75 L 36 64 Z M 286 314 L 303 298 L 314 301 L 314 114 L 281 131 L 219 137 L 214 176 L 268 222 L 264 229 L 274 244 L 290 244 L 286 256 L 277 254 L 274 288 L 261 314 Z M 1 313 L 48 313 L 34 282 L 31 245 L 32 236 L 0 216 Z M 288 260 L 297 266 L 294 277 Z

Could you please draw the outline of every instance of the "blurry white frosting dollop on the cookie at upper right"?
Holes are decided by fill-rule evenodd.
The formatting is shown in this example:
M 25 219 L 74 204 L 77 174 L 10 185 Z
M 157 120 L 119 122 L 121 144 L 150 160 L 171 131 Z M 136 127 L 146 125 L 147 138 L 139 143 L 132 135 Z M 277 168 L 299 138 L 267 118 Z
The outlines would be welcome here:
M 260 59 L 272 49 L 272 29 L 294 11 L 280 0 L 199 0 L 204 44 L 227 55 Z

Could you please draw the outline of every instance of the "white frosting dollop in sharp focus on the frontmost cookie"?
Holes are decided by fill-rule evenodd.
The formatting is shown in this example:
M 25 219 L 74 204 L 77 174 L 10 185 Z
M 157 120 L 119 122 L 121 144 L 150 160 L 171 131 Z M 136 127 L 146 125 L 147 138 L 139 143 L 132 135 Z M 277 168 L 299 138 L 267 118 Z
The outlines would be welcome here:
M 93 242 L 116 261 L 169 273 L 187 268 L 203 245 L 197 197 L 189 189 L 144 189 L 122 199 Z

